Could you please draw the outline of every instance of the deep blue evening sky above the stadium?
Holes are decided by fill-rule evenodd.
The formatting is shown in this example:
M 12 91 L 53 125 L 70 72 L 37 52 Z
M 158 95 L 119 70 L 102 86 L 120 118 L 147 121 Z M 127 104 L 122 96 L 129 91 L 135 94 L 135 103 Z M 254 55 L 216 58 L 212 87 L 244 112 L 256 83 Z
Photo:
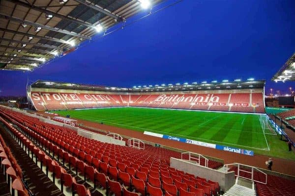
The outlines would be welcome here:
M 287 92 L 294 83 L 270 79 L 294 52 L 295 0 L 183 0 L 33 72 L 0 71 L 0 96 L 24 95 L 28 77 L 128 87 L 254 77 Z

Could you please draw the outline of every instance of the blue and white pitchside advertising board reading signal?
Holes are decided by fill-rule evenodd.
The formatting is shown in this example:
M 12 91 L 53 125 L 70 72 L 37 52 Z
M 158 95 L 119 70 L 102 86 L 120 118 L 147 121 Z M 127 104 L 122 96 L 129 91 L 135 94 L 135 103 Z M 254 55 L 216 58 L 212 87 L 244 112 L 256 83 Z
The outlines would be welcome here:
M 154 137 L 163 138 L 166 140 L 173 140 L 173 141 L 177 141 L 177 142 L 183 142 L 183 143 L 198 145 L 198 146 L 202 146 L 202 147 L 210 147 L 210 148 L 215 148 L 215 149 L 219 149 L 219 150 L 235 152 L 238 154 L 245 154 L 245 155 L 249 155 L 249 156 L 254 156 L 253 150 L 246 150 L 246 149 L 241 149 L 241 148 L 236 148 L 236 147 L 216 145 L 216 144 L 211 144 L 211 143 L 207 143 L 207 142 L 189 140 L 189 139 L 185 139 L 185 138 L 179 138 L 179 137 L 175 137 L 175 136 L 171 136 L 171 135 L 163 135 L 163 134 L 158 134 L 158 133 L 153 133 L 153 132 L 148 132 L 148 131 L 145 131 L 144 134 L 154 136 Z

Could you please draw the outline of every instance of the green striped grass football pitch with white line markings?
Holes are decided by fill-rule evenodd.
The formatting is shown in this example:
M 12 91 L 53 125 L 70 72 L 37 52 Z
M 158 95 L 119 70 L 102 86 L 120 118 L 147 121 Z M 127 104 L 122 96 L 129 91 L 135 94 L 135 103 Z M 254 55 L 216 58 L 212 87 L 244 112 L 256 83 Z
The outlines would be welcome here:
M 260 115 L 255 114 L 135 107 L 63 110 L 55 113 L 136 131 L 251 149 L 255 153 L 295 160 L 294 153 L 286 153 L 287 145 L 279 140 L 279 136 L 268 134 L 271 133 L 269 129 L 264 134 Z

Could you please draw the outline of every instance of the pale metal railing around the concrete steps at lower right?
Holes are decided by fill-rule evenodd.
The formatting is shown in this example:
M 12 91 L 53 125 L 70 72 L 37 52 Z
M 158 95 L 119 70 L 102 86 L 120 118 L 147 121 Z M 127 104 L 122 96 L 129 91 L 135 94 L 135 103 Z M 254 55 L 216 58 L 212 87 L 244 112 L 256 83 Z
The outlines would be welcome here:
M 226 164 L 226 165 L 223 166 L 224 170 L 226 170 L 226 171 L 229 171 L 233 167 L 237 168 L 237 172 L 235 174 L 236 177 L 244 178 L 244 179 L 251 180 L 251 181 L 254 181 L 254 182 L 259 182 L 259 183 L 262 183 L 262 184 L 267 184 L 267 174 L 265 172 L 262 172 L 260 169 L 258 169 L 256 167 L 253 167 L 253 166 L 240 164 L 240 163 Z M 255 172 L 260 172 L 262 174 L 258 174 L 258 176 L 255 177 L 254 176 Z M 263 177 L 260 177 L 261 175 L 265 176 L 265 181 L 260 180 L 261 178 L 263 178 Z

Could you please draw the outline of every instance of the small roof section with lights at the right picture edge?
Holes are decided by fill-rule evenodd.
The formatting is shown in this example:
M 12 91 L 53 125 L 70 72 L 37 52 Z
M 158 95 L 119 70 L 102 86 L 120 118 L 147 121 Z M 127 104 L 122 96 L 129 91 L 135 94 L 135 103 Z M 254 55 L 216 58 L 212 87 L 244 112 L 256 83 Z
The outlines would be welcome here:
M 295 81 L 295 53 L 283 67 L 272 77 L 273 81 Z

